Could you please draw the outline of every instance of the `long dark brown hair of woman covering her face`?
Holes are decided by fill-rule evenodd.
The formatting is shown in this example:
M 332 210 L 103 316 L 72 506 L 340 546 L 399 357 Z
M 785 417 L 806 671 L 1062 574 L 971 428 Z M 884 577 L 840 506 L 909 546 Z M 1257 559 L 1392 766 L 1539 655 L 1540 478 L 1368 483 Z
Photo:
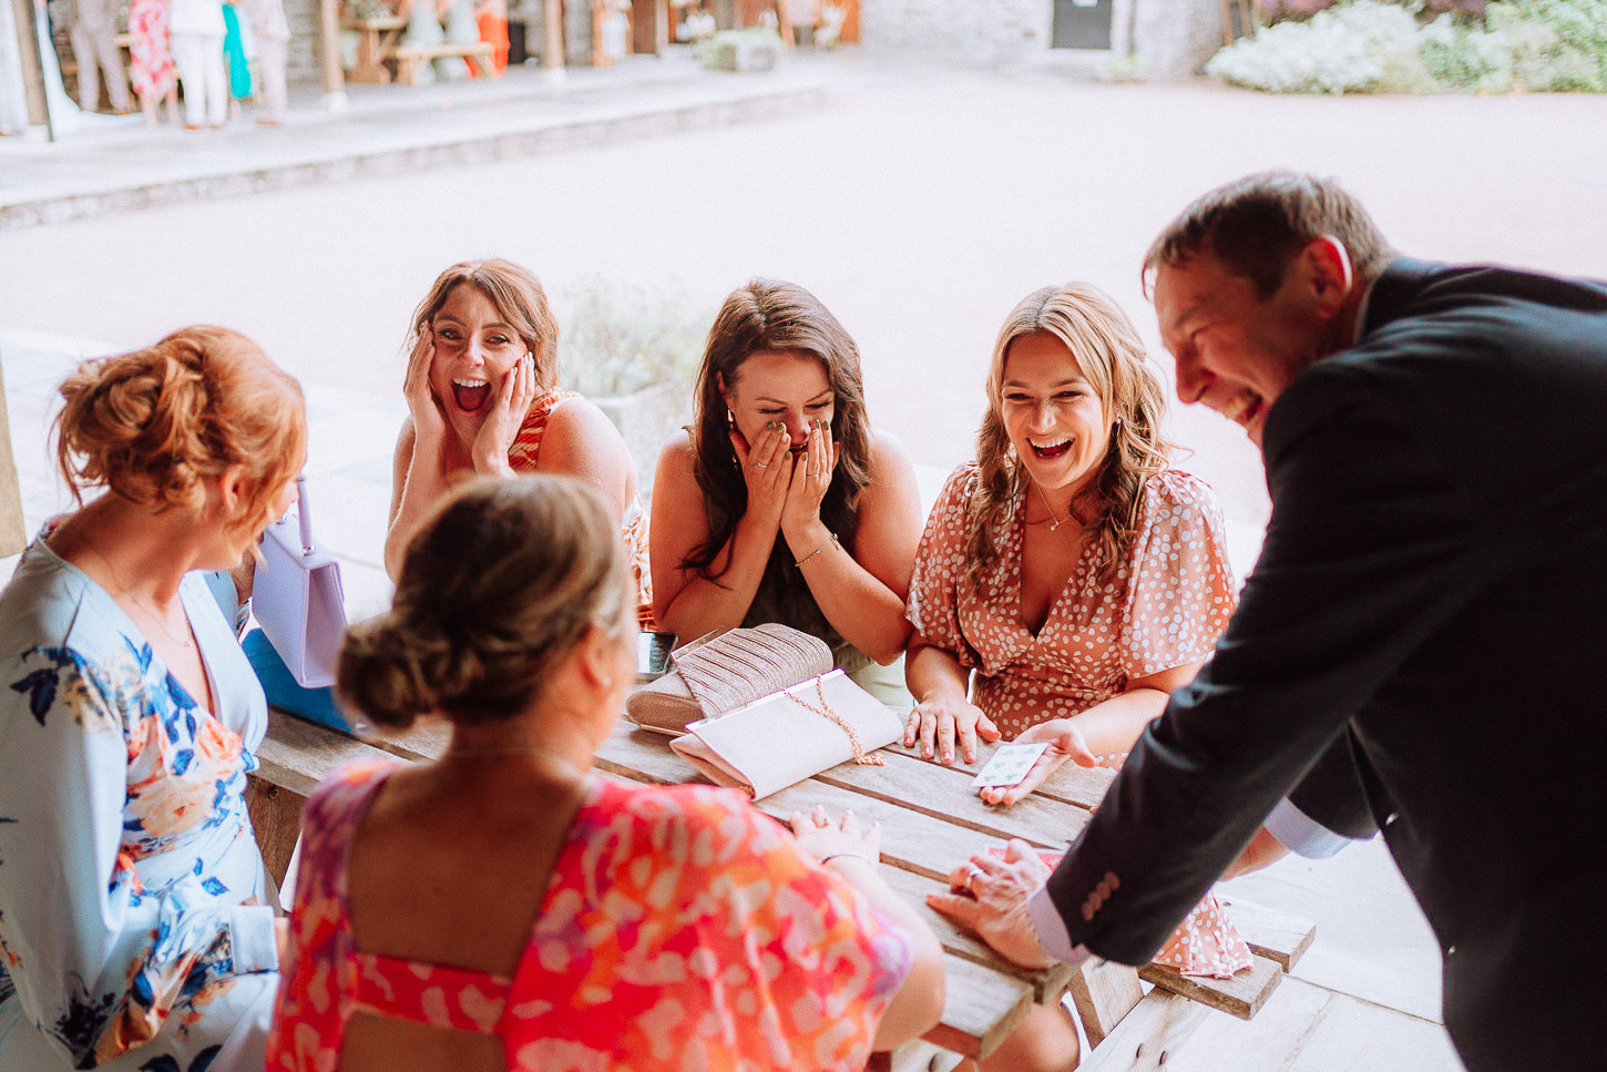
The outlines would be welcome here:
M 860 349 L 820 299 L 794 283 L 752 280 L 725 299 L 709 329 L 693 413 L 693 473 L 710 503 L 709 540 L 693 548 L 681 569 L 709 575 L 709 567 L 747 511 L 747 482 L 731 445 L 730 410 L 720 394 L 742 374 L 754 354 L 783 350 L 813 357 L 826 368 L 834 408 L 831 437 L 839 447 L 837 469 L 820 505 L 820 519 L 845 546 L 853 546 L 855 508 L 869 484 L 871 429 L 865 418 Z M 786 545 L 776 540 L 786 554 Z M 786 563 L 791 566 L 791 561 Z M 771 567 L 776 566 L 775 553 Z M 794 571 L 795 572 L 795 571 Z

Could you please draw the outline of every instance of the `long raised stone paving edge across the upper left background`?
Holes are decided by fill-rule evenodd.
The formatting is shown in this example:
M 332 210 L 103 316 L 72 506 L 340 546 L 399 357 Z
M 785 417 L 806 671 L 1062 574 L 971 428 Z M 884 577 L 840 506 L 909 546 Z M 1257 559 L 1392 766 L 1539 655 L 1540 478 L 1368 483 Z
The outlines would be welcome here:
M 495 80 L 350 85 L 339 111 L 304 95 L 275 127 L 247 117 L 183 130 L 82 116 L 55 143 L 0 138 L 0 230 L 784 116 L 820 106 L 824 71 L 807 61 L 704 71 L 672 50 L 562 80 L 511 68 Z

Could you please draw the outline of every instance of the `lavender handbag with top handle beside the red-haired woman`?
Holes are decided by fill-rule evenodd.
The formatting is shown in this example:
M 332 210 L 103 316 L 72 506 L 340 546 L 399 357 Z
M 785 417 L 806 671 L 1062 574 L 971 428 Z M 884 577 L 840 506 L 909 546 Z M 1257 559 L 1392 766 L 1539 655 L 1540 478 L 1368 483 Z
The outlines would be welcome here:
M 296 477 L 296 519 L 280 518 L 262 534 L 262 566 L 251 588 L 252 611 L 302 688 L 334 685 L 334 659 L 346 630 L 341 567 L 312 538 L 307 477 Z

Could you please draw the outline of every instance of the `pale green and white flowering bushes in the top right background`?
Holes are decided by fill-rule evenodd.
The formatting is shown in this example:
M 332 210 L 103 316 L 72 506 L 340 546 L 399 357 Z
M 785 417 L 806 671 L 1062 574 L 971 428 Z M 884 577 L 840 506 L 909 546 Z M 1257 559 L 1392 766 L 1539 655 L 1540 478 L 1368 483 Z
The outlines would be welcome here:
M 1273 93 L 1607 92 L 1607 0 L 1501 0 L 1483 24 L 1353 0 L 1218 51 L 1205 72 Z

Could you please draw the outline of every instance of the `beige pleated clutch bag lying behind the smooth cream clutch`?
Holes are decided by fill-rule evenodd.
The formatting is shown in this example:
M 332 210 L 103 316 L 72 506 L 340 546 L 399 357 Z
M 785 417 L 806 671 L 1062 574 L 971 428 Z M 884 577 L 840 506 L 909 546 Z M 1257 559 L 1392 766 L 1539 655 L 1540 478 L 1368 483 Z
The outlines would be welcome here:
M 736 710 L 831 670 L 831 648 L 787 625 L 728 628 L 670 653 L 670 670 L 625 701 L 643 730 L 681 734 L 688 723 Z

